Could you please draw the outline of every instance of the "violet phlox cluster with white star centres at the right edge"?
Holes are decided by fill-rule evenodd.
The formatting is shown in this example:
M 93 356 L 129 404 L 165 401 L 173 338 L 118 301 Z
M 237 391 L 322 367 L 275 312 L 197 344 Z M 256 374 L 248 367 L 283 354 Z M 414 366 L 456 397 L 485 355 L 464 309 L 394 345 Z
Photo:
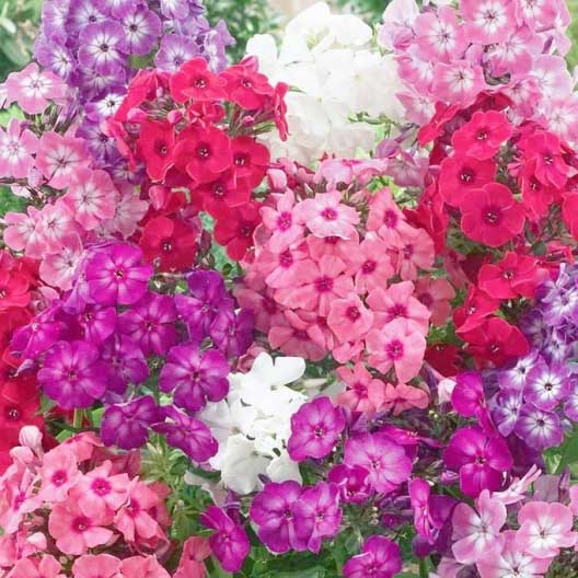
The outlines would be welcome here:
M 566 425 L 578 421 L 577 284 L 578 267 L 562 266 L 557 278 L 540 288 L 535 307 L 520 320 L 532 350 L 488 375 L 498 431 L 539 451 L 562 443 Z

